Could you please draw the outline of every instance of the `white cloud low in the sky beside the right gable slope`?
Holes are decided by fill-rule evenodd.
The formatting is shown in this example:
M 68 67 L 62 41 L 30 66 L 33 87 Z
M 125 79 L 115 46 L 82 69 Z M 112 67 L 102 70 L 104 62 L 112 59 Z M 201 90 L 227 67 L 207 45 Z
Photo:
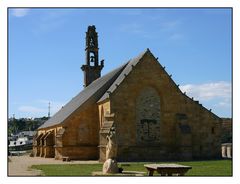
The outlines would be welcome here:
M 230 103 L 231 83 L 225 81 L 205 83 L 205 84 L 187 84 L 180 86 L 182 92 L 186 92 L 189 97 L 197 100 L 208 101 L 221 99 L 219 105 Z

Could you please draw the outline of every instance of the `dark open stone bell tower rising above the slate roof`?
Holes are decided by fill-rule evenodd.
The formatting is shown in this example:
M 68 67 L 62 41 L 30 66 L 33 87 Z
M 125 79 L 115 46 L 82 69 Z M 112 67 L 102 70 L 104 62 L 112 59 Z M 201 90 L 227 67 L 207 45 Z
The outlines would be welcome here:
M 101 77 L 101 70 L 104 66 L 104 60 L 99 63 L 98 60 L 98 34 L 94 25 L 88 26 L 86 32 L 86 64 L 81 69 L 84 73 L 84 87 L 87 87 L 94 80 Z

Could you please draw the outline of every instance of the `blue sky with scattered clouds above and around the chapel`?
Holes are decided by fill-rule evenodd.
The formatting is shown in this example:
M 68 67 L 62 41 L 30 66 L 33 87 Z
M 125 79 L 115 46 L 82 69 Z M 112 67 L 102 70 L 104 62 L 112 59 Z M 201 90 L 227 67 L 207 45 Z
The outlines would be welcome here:
M 20 9 L 8 12 L 9 116 L 47 116 L 83 89 L 85 32 L 102 74 L 149 48 L 182 91 L 231 117 L 231 9 Z

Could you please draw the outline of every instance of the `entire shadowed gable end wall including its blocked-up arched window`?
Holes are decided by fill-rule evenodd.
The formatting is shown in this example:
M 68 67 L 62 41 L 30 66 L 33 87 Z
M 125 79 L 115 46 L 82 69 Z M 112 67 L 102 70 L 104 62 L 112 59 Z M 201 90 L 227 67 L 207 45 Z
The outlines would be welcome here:
M 144 96 L 147 100 L 141 100 Z M 110 94 L 110 101 L 111 113 L 115 114 L 120 160 L 189 160 L 221 155 L 220 119 L 182 94 L 150 53 L 133 66 Z M 151 105 L 159 112 L 152 111 Z M 179 114 L 186 118 L 180 120 Z M 149 121 L 141 123 L 145 116 Z M 149 127 L 149 124 L 156 127 Z M 147 136 L 153 140 L 141 147 L 149 140 Z

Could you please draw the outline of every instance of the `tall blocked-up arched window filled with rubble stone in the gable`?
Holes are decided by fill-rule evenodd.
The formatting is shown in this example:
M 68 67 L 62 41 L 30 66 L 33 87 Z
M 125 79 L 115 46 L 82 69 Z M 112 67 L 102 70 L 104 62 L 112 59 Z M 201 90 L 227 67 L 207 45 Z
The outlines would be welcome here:
M 160 141 L 160 98 L 151 87 L 144 88 L 137 97 L 136 125 L 138 143 Z

